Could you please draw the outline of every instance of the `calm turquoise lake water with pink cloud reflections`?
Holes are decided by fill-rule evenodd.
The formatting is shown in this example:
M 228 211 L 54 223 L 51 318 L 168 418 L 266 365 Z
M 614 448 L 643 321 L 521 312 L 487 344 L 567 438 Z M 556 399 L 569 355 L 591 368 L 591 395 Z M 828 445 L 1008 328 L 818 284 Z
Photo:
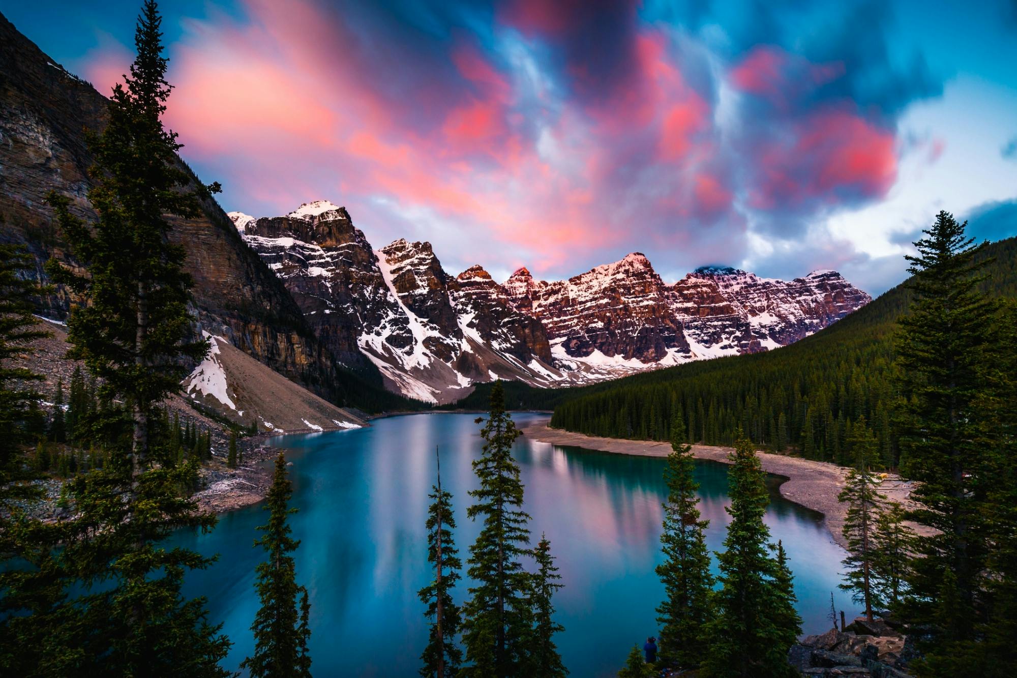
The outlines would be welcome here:
M 478 531 L 466 517 L 475 487 L 470 461 L 480 451 L 470 414 L 417 414 L 378 419 L 369 429 L 290 436 L 297 577 L 311 599 L 311 655 L 318 676 L 415 676 L 426 622 L 417 590 L 430 579 L 424 516 L 434 478 L 434 448 L 442 485 L 454 494 L 455 532 L 464 564 Z M 542 418 L 517 414 L 518 423 Z M 663 588 L 654 573 L 664 495 L 663 459 L 630 457 L 521 440 L 515 449 L 526 484 L 533 534 L 547 533 L 565 587 L 556 597 L 565 627 L 557 642 L 573 676 L 614 676 L 634 642 L 656 635 L 654 608 Z M 724 539 L 726 467 L 698 462 L 703 515 L 713 550 Z M 844 552 L 820 515 L 780 498 L 771 483 L 767 514 L 795 574 L 803 630 L 826 630 L 830 591 L 838 609 L 854 606 L 837 589 Z M 212 534 L 179 540 L 220 554 L 211 569 L 188 579 L 188 595 L 208 598 L 212 619 L 234 641 L 227 666 L 252 649 L 249 626 L 257 607 L 252 588 L 260 550 L 251 548 L 260 506 L 224 515 Z M 462 585 L 457 600 L 466 595 Z

